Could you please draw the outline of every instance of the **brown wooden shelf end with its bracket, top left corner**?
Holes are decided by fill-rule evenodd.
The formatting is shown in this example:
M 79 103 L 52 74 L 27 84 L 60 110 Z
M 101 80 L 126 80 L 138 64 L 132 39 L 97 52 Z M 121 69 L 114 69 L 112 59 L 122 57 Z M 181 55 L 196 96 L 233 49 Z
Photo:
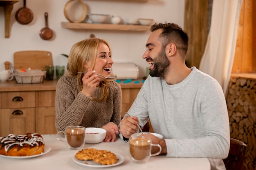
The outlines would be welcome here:
M 10 19 L 13 4 L 20 0 L 0 0 L 0 6 L 4 7 L 4 37 L 10 37 Z

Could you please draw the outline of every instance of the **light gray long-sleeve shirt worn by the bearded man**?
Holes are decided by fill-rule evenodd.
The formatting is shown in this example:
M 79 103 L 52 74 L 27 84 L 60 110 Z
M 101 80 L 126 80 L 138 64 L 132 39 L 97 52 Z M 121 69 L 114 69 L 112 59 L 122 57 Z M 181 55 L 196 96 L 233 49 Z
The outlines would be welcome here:
M 154 132 L 163 135 L 167 157 L 207 157 L 211 170 L 225 170 L 229 152 L 229 117 L 220 84 L 192 67 L 182 82 L 168 85 L 163 77 L 148 77 L 128 110 L 148 118 Z

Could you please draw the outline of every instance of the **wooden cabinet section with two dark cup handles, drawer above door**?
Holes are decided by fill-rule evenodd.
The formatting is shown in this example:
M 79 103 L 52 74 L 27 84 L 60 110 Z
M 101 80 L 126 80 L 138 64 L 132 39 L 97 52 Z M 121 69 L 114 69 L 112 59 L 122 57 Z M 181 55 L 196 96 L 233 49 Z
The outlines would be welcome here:
M 35 92 L 1 92 L 0 99 L 0 136 L 35 132 Z

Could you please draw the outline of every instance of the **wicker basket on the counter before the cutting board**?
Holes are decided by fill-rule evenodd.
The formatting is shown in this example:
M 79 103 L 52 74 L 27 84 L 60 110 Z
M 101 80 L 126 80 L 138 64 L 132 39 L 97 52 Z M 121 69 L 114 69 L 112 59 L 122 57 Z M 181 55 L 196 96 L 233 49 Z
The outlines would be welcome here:
M 18 84 L 34 84 L 43 83 L 46 76 L 46 71 L 41 70 L 26 70 L 27 72 L 20 72 L 19 70 L 13 73 Z

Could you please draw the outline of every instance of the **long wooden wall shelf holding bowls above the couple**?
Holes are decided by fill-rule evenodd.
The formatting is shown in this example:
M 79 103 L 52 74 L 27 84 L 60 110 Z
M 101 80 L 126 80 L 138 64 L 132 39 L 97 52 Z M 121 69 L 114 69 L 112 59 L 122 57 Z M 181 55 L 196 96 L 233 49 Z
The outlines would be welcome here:
M 123 24 L 91 24 L 61 22 L 66 29 L 96 29 L 96 30 L 119 30 L 119 31 L 150 31 L 150 26 L 144 25 L 123 25 Z

